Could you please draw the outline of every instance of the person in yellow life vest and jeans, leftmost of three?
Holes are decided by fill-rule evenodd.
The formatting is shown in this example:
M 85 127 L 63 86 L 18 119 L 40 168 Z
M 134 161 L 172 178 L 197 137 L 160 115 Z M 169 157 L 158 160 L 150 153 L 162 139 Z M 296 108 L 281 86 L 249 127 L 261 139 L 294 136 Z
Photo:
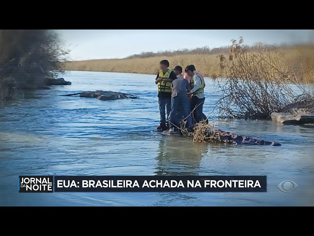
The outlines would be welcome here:
M 158 130 L 167 130 L 167 120 L 171 111 L 171 83 L 177 79 L 175 72 L 169 69 L 169 61 L 161 60 L 159 62 L 160 71 L 157 74 L 155 84 L 158 86 L 158 104 L 160 113 L 160 125 Z M 167 119 L 166 112 L 167 110 Z

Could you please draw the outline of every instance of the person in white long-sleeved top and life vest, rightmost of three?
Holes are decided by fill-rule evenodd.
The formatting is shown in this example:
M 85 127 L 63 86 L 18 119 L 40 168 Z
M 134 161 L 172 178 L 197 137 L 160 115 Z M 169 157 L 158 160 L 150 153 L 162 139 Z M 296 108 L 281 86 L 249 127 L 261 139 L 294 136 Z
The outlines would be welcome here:
M 191 96 L 190 99 L 190 109 L 192 112 L 192 119 L 194 123 L 198 123 L 207 117 L 203 114 L 203 104 L 205 102 L 204 95 L 204 83 L 201 77 L 197 74 L 194 74 L 193 66 L 187 66 L 185 68 L 185 73 L 188 76 L 191 76 L 190 88 L 191 90 L 188 94 Z

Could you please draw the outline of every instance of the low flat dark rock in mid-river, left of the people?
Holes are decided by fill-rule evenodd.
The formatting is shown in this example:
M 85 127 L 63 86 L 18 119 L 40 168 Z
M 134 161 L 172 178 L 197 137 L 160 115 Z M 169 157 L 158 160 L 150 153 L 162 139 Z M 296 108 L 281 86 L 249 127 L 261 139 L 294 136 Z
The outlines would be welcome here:
M 94 91 L 86 91 L 86 92 L 77 92 L 73 94 L 66 94 L 63 96 L 74 96 L 79 95 L 80 97 L 88 97 L 88 98 L 97 98 L 99 100 L 117 100 L 123 98 L 137 98 L 135 95 L 122 93 L 122 92 L 113 92 L 113 91 L 103 91 L 96 90 Z

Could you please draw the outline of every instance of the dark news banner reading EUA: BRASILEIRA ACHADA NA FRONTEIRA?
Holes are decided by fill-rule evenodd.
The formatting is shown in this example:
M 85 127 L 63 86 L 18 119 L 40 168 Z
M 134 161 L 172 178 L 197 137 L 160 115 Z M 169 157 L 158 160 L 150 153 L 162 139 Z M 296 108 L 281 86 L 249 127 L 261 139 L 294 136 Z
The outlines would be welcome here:
M 19 176 L 20 193 L 266 191 L 266 176 Z

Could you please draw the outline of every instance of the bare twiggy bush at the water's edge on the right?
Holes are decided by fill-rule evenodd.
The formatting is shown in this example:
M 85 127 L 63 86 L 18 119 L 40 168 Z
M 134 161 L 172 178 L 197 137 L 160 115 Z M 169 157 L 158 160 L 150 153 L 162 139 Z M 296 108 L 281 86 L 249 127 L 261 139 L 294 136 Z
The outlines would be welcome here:
M 260 50 L 249 52 L 242 43 L 242 38 L 232 40 L 228 57 L 218 56 L 226 72 L 226 79 L 214 78 L 222 93 L 218 102 L 221 118 L 267 118 L 299 99 L 313 99 L 313 84 L 306 81 L 314 82 L 313 73 L 306 74 L 310 70 L 302 68 L 301 83 L 275 47 L 260 45 Z

